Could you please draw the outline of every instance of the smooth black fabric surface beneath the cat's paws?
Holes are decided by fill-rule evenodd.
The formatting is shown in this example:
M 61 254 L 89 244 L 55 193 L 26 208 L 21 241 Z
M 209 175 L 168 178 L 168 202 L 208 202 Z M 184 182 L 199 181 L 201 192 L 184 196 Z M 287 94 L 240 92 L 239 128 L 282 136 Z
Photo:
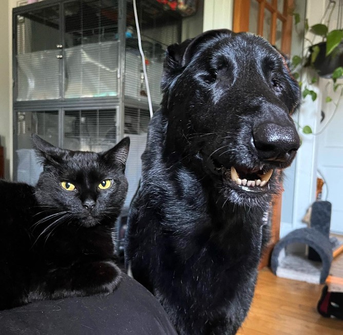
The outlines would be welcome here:
M 124 275 L 109 295 L 37 301 L 0 311 L 0 334 L 176 335 L 176 331 L 155 297 Z

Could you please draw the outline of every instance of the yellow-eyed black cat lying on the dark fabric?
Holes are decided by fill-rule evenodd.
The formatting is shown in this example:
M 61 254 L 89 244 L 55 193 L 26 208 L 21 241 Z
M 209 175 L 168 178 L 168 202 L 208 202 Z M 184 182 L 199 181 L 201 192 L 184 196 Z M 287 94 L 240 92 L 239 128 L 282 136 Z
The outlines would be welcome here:
M 110 293 L 121 279 L 112 233 L 129 138 L 100 154 L 32 139 L 44 167 L 36 187 L 0 181 L 0 309 Z

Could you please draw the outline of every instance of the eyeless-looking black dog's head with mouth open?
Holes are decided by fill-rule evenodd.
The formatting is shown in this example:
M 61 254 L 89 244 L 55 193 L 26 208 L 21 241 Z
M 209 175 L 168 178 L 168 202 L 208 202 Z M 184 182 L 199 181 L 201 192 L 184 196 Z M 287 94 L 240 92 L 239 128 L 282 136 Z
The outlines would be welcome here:
M 204 32 L 168 47 L 161 87 L 169 153 L 193 157 L 231 202 L 278 192 L 276 172 L 300 144 L 291 118 L 300 92 L 273 46 L 250 33 Z

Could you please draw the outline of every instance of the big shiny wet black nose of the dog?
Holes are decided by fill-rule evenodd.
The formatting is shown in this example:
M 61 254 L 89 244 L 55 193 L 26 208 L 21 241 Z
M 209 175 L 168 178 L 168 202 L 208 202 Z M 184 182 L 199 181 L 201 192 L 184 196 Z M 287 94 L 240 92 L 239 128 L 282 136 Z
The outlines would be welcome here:
M 290 162 L 299 146 L 299 135 L 293 125 L 259 124 L 253 131 L 254 145 L 261 159 Z

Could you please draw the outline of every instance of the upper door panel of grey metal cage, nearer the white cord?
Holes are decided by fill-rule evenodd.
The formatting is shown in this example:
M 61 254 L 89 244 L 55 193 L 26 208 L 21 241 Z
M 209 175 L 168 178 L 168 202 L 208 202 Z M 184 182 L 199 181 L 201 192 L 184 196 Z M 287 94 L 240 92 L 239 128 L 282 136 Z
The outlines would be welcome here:
M 118 95 L 118 0 L 64 5 L 65 97 Z

